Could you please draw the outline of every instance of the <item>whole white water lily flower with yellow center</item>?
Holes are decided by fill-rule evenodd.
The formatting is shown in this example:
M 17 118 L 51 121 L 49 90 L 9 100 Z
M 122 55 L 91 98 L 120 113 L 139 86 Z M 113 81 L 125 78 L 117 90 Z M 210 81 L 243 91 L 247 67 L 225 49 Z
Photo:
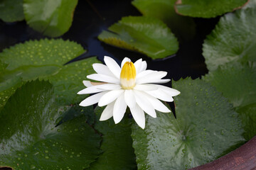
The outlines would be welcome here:
M 156 118 L 156 111 L 171 112 L 161 101 L 174 101 L 172 96 L 180 94 L 176 89 L 171 89 L 164 84 L 170 79 L 162 79 L 167 72 L 146 70 L 146 62 L 142 59 L 134 64 L 125 57 L 121 67 L 111 57 L 104 57 L 105 64 L 92 64 L 97 74 L 90 74 L 88 79 L 101 81 L 94 83 L 83 81 L 87 87 L 78 94 L 94 94 L 80 103 L 80 106 L 107 106 L 100 116 L 100 120 L 114 118 L 114 123 L 119 123 L 129 107 L 136 123 L 145 128 L 144 112 Z M 161 100 L 161 101 L 159 101 Z M 156 110 L 156 111 L 155 111 Z

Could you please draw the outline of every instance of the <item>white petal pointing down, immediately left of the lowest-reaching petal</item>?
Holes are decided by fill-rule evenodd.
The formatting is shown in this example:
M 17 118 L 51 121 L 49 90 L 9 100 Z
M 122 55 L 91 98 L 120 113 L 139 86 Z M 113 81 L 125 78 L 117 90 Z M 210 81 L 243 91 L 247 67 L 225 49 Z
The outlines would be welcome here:
M 124 101 L 124 94 L 122 94 L 117 98 L 117 100 L 114 103 L 113 118 L 115 124 L 119 123 L 122 120 L 126 109 L 127 104 Z

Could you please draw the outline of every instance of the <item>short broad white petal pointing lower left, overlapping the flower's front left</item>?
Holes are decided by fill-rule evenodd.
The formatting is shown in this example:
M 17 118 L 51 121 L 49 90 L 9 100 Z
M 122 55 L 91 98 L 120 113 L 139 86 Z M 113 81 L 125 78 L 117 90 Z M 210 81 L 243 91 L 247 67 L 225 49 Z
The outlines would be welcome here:
M 102 98 L 100 98 L 98 106 L 102 107 L 107 105 L 108 103 L 111 103 L 116 98 L 118 98 L 122 93 L 124 93 L 123 89 L 108 91 L 104 96 L 102 96 Z

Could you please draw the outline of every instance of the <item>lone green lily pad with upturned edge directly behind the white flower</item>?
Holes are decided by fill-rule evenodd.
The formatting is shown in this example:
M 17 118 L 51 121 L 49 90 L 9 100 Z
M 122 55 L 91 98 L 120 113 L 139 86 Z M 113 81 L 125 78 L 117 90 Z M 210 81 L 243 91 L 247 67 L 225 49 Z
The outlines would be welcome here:
M 103 31 L 98 38 L 107 44 L 142 52 L 152 59 L 173 55 L 178 42 L 160 20 L 146 16 L 129 16 Z

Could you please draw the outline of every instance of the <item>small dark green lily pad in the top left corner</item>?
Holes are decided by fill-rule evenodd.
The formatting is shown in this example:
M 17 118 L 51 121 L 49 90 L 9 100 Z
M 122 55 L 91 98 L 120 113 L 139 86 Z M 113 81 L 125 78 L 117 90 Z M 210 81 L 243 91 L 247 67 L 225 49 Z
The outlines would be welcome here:
M 0 1 L 0 19 L 4 22 L 22 21 L 23 0 L 1 0 Z

